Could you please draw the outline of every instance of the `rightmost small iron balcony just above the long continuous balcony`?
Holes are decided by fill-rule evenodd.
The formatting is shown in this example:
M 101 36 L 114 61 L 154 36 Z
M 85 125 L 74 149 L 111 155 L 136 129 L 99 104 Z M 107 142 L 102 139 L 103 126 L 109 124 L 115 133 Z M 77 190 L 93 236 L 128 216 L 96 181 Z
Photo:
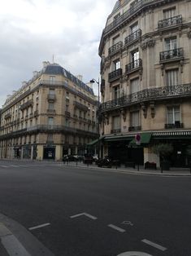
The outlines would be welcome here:
M 169 62 L 174 60 L 182 60 L 184 58 L 183 48 L 177 48 L 169 51 L 160 52 L 160 62 Z

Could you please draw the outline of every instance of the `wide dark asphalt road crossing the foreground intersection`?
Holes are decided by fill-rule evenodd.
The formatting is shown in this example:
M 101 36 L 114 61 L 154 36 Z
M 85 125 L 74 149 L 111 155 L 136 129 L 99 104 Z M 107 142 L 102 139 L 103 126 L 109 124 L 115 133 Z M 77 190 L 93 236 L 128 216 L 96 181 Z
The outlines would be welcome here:
M 191 255 L 189 177 L 1 161 L 0 213 L 58 256 Z

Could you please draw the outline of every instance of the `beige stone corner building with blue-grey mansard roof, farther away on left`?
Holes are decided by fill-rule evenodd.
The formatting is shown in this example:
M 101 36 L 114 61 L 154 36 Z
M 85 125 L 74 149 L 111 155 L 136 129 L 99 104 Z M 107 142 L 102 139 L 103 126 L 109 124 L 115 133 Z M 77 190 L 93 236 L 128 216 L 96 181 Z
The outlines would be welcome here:
M 2 106 L 1 158 L 61 160 L 98 137 L 93 89 L 59 64 L 43 65 Z

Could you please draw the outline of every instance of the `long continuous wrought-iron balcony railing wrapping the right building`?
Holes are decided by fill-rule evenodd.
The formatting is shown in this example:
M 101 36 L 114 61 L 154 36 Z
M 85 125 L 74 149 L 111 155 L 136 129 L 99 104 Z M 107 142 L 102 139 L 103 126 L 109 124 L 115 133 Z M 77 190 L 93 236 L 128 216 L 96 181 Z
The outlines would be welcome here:
M 132 104 L 137 104 L 141 102 L 147 102 L 150 100 L 160 100 L 160 99 L 173 99 L 177 97 L 190 97 L 191 96 L 191 83 L 176 86 L 164 86 L 158 88 L 150 88 L 145 90 L 140 90 L 138 92 L 132 93 L 130 95 L 124 95 L 118 99 L 118 104 L 116 105 L 116 100 L 106 101 L 100 105 L 101 112 L 110 111 L 115 108 L 128 107 Z

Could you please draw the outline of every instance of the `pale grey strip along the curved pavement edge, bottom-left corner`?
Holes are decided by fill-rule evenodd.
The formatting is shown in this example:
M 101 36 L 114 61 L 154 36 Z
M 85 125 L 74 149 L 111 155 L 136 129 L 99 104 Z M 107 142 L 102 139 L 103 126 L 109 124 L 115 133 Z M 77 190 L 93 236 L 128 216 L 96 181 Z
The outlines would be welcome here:
M 2 245 L 7 250 L 10 256 L 31 256 L 18 239 L 11 233 L 11 231 L 3 224 L 0 223 L 0 239 Z

